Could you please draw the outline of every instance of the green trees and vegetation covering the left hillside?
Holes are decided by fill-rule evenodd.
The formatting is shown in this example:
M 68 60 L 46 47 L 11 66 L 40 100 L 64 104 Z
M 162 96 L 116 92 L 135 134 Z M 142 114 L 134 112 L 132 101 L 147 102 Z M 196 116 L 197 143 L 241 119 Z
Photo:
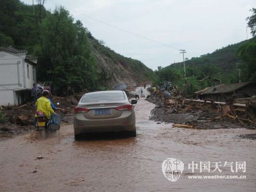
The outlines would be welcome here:
M 101 45 L 81 21 L 63 7 L 52 13 L 44 8 L 44 0 L 35 1 L 34 7 L 19 0 L 1 0 L 0 46 L 26 49 L 38 56 L 37 80 L 50 84 L 54 93 L 67 94 L 69 88 L 77 92 L 108 89 L 107 81 L 113 73 L 99 70 L 94 55 L 96 48 L 114 63 L 134 72 L 137 82 L 149 80 L 154 72 L 143 63 L 126 58 Z

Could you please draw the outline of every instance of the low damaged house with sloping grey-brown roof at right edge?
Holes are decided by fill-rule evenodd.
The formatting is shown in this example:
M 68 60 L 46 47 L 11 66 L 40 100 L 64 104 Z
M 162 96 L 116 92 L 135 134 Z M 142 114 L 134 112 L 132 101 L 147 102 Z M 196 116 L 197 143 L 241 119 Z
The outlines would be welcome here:
M 228 98 L 246 98 L 256 95 L 254 82 L 241 82 L 237 84 L 222 84 L 207 87 L 195 92 L 197 98 L 212 99 L 216 102 L 227 102 Z

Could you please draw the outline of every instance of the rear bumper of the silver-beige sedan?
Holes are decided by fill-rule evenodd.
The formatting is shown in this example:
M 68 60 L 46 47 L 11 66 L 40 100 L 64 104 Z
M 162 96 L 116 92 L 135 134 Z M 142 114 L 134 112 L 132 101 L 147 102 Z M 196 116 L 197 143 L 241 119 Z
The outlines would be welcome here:
M 82 113 L 74 115 L 75 135 L 89 132 L 109 132 L 109 131 L 134 131 L 135 114 L 134 111 L 123 111 L 118 118 L 112 119 L 86 119 Z

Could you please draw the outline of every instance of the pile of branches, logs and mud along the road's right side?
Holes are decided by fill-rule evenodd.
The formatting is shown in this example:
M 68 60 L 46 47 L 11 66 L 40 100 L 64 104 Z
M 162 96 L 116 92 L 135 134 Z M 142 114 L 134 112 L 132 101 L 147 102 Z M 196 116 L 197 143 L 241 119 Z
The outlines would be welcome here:
M 179 91 L 177 91 L 179 92 Z M 256 101 L 247 104 L 225 104 L 185 99 L 180 94 L 166 97 L 151 95 L 149 102 L 156 104 L 151 120 L 174 123 L 173 127 L 190 129 L 256 128 Z

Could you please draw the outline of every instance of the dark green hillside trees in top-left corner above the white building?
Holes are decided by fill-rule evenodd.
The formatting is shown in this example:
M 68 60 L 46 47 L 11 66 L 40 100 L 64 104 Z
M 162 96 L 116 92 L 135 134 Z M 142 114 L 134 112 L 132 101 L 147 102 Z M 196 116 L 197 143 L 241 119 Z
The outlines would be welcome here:
M 39 27 L 46 14 L 42 4 L 34 6 L 19 0 L 1 0 L 0 6 L 0 46 L 15 46 L 33 53 L 38 43 Z

